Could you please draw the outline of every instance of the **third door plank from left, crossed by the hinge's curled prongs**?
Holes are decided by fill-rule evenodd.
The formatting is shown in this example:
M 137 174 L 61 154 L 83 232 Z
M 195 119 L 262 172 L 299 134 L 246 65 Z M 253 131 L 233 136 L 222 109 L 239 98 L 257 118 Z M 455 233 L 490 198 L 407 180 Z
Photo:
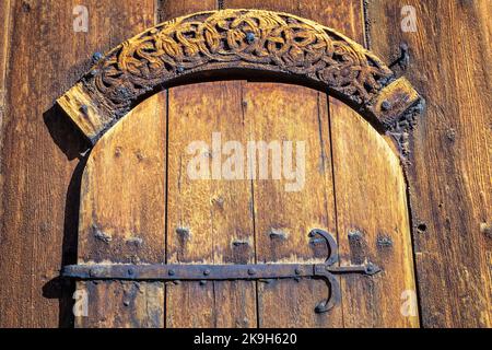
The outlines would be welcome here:
M 268 179 L 253 180 L 257 261 L 323 261 L 327 249 L 309 245 L 308 233 L 313 229 L 336 232 L 327 96 L 296 85 L 248 83 L 244 101 L 250 139 L 278 142 L 283 152 L 278 153 L 282 154 L 280 163 L 273 165 L 276 151 L 268 151 L 268 164 L 259 163 L 256 170 L 259 176 L 259 167 L 267 166 Z M 284 141 L 293 142 L 292 153 Z M 286 178 L 285 171 L 273 175 L 280 164 L 284 168 L 285 159 L 292 161 L 288 168 L 296 171 L 295 177 Z M 259 326 L 341 326 L 340 307 L 326 314 L 314 312 L 327 293 L 320 281 L 259 283 Z

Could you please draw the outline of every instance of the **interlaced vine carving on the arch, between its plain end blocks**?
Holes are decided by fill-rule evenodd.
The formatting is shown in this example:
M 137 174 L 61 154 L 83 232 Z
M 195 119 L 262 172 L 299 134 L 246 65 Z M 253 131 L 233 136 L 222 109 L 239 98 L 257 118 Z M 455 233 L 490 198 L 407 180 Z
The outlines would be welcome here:
M 251 68 L 298 74 L 366 105 L 393 80 L 374 55 L 333 30 L 259 10 L 200 12 L 162 23 L 102 57 L 82 83 L 108 115 L 185 73 Z

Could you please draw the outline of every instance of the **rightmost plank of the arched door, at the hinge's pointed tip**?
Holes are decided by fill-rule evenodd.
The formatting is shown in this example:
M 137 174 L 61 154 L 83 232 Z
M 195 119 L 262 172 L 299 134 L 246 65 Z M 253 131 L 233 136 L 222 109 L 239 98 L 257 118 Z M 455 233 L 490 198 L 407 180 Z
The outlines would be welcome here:
M 417 294 L 399 158 L 375 129 L 335 100 L 330 121 L 341 259 L 383 268 L 371 279 L 342 278 L 344 326 L 415 327 L 417 304 L 400 312 L 402 296 L 415 302 Z

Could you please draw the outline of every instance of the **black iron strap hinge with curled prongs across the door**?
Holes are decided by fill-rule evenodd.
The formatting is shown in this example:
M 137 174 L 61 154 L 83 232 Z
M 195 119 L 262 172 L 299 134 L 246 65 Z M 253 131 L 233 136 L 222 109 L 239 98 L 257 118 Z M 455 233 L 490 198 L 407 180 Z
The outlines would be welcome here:
M 328 258 L 324 264 L 248 264 L 248 265 L 186 265 L 186 264 L 98 264 L 66 266 L 61 276 L 80 280 L 265 280 L 314 278 L 324 280 L 328 298 L 319 302 L 317 313 L 331 310 L 340 302 L 340 283 L 336 275 L 362 273 L 372 276 L 380 269 L 371 262 L 356 266 L 336 266 L 338 246 L 335 238 L 323 230 L 313 230 L 311 237 L 320 236 L 327 243 Z

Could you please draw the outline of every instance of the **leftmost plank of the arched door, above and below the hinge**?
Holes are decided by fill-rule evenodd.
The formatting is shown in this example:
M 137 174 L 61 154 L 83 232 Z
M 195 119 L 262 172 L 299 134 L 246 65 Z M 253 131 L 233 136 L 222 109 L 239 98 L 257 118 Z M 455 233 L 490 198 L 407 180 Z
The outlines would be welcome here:
M 165 262 L 166 92 L 149 97 L 96 143 L 84 170 L 79 264 Z M 163 327 L 164 283 L 80 282 L 77 327 Z

